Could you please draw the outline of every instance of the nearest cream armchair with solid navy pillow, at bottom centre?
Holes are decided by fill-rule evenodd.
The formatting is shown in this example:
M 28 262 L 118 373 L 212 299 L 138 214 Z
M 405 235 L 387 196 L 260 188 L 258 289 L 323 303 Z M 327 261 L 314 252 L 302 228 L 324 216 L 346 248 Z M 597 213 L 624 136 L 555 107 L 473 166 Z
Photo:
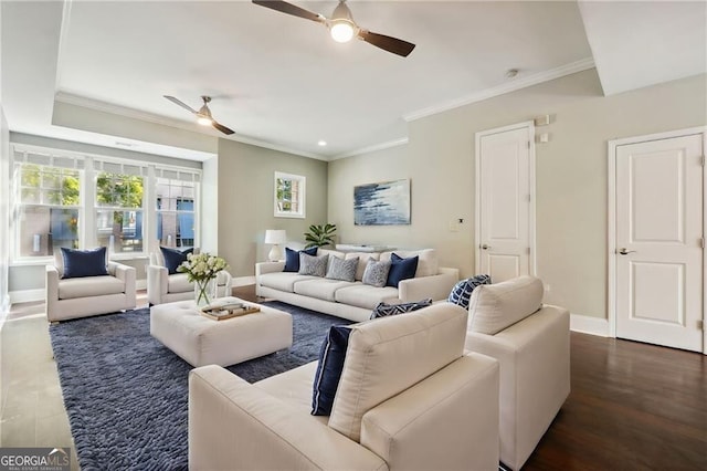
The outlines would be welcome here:
M 317 362 L 255 384 L 189 374 L 190 470 L 497 470 L 498 362 L 464 354 L 466 310 L 441 303 L 352 326 L 331 415 Z

